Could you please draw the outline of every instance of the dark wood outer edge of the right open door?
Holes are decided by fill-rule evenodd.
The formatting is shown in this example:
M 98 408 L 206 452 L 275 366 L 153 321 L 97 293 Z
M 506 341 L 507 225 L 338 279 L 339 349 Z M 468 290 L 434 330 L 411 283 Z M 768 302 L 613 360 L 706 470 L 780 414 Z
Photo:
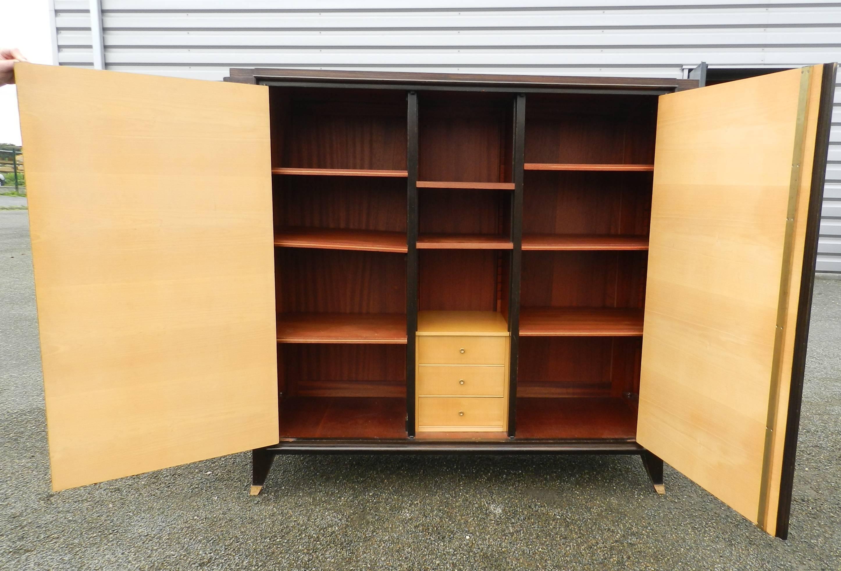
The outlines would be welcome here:
M 800 429 L 800 412 L 803 401 L 803 379 L 806 372 L 809 321 L 812 312 L 812 291 L 815 285 L 817 262 L 817 237 L 821 224 L 823 186 L 826 179 L 829 129 L 832 122 L 835 76 L 838 64 L 823 65 L 821 98 L 817 112 L 815 158 L 812 162 L 812 183 L 807 212 L 806 243 L 803 250 L 800 295 L 797 304 L 794 355 L 791 363 L 791 390 L 785 422 L 780 498 L 777 505 L 776 537 L 787 539 L 791 519 L 791 496 L 794 488 L 794 470 L 797 452 L 797 435 Z

